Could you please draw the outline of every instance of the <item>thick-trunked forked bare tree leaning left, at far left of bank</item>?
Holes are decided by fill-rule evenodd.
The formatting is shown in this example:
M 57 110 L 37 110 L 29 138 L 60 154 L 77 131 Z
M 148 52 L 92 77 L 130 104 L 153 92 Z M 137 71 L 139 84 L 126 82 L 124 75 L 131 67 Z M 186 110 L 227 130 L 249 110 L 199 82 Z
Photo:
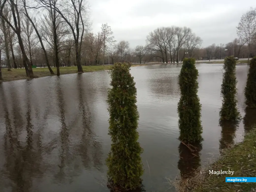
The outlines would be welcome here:
M 4 0 L 4 3 L 6 0 Z M 11 10 L 12 10 L 12 15 L 13 15 L 13 22 L 14 26 L 8 21 L 8 19 L 2 14 L 2 10 L 0 12 L 0 16 L 4 18 L 5 22 L 13 29 L 13 31 L 17 34 L 18 37 L 18 42 L 20 49 L 22 51 L 22 57 L 23 57 L 23 66 L 25 67 L 26 74 L 28 77 L 33 78 L 33 70 L 31 63 L 26 55 L 25 49 L 24 49 L 24 44 L 21 36 L 21 27 L 20 27 L 20 15 L 19 15 L 19 10 L 18 10 L 18 5 L 14 2 L 14 0 L 9 0 L 10 5 L 11 5 Z

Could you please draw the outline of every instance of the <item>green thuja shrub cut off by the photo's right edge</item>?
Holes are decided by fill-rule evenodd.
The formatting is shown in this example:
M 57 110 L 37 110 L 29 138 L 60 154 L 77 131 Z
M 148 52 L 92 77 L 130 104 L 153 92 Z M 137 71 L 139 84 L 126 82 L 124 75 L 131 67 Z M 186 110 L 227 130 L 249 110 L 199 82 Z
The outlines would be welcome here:
M 248 108 L 256 108 L 256 57 L 253 57 L 249 64 L 245 93 L 245 104 Z

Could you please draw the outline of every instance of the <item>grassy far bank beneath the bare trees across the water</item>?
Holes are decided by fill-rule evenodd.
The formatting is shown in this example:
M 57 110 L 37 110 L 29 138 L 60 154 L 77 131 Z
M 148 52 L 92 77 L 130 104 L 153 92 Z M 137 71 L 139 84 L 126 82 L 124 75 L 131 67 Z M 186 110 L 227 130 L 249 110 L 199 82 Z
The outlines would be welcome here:
M 150 63 L 150 64 L 135 64 L 132 65 L 132 67 L 135 66 L 143 66 L 143 65 L 154 65 L 157 63 Z M 93 72 L 93 71 L 102 71 L 102 70 L 108 70 L 110 68 L 109 65 L 100 65 L 100 66 L 83 66 L 84 72 Z M 52 70 L 56 74 L 56 67 L 52 67 Z M 35 78 L 39 77 L 46 77 L 46 76 L 52 76 L 48 70 L 47 67 L 45 68 L 33 68 L 33 73 Z M 70 73 L 77 73 L 77 67 L 60 67 L 60 74 L 70 74 Z M 4 81 L 13 81 L 13 80 L 19 80 L 19 79 L 30 79 L 26 76 L 25 69 L 12 69 L 12 71 L 7 71 L 7 69 L 2 69 L 2 76 Z

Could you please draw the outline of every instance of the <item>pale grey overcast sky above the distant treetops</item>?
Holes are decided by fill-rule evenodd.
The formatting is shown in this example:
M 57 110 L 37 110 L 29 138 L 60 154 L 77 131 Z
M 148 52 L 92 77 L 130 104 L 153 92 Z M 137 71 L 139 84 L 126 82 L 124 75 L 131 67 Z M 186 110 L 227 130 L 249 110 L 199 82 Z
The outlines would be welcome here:
M 255 0 L 89 0 L 92 29 L 111 26 L 115 40 L 130 47 L 145 45 L 146 36 L 157 27 L 190 27 L 203 39 L 202 46 L 230 42 L 240 17 Z

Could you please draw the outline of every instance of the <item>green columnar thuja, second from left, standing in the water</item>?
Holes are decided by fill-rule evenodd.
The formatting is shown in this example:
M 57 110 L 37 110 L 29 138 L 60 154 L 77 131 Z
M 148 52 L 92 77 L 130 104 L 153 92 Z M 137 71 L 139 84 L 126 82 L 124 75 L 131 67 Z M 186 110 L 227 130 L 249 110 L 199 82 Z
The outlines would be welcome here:
M 178 103 L 179 139 L 185 143 L 202 141 L 201 104 L 197 95 L 197 77 L 195 59 L 185 58 L 179 74 L 180 100 Z

